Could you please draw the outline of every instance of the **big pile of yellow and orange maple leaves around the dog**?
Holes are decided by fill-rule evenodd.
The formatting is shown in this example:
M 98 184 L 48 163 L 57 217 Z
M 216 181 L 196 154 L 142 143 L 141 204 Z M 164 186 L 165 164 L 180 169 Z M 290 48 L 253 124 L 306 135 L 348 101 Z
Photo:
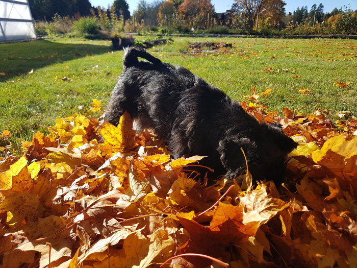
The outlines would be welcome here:
M 202 157 L 171 159 L 126 113 L 100 125 L 98 101 L 58 118 L 0 162 L 2 266 L 356 267 L 356 118 L 279 116 L 259 95 L 244 109 L 299 142 L 280 191 L 249 172 L 204 185 L 185 171 Z

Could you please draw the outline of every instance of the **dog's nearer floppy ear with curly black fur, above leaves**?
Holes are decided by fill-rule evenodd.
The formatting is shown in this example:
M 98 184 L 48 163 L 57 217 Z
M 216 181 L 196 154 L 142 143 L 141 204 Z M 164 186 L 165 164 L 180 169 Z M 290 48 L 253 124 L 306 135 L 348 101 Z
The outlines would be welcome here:
M 233 179 L 244 173 L 246 169 L 245 158 L 248 160 L 248 167 L 258 162 L 257 147 L 249 138 L 228 137 L 219 141 L 218 152 L 221 162 L 227 170 L 227 179 Z

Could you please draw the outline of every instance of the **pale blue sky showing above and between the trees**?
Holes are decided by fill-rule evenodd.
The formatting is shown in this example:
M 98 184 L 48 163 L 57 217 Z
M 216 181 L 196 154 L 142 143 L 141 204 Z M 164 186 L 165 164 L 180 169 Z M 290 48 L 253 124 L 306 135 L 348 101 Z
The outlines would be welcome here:
M 107 8 L 108 5 L 111 5 L 114 0 L 89 0 L 92 6 L 97 7 L 105 7 Z M 133 14 L 133 11 L 136 9 L 139 0 L 126 0 L 126 3 L 129 5 L 130 14 Z M 146 0 L 147 3 L 154 2 L 154 0 Z M 228 9 L 231 9 L 234 0 L 211 0 L 211 3 L 215 6 L 215 10 L 217 13 L 225 12 Z M 301 8 L 304 6 L 308 6 L 308 9 L 311 9 L 311 6 L 316 4 L 317 6 L 322 3 L 324 6 L 324 12 L 331 12 L 335 7 L 342 8 L 343 6 L 350 5 L 352 10 L 357 9 L 357 0 L 317 0 L 315 1 L 306 1 L 306 0 L 285 0 L 286 6 L 285 11 L 293 12 L 296 8 Z

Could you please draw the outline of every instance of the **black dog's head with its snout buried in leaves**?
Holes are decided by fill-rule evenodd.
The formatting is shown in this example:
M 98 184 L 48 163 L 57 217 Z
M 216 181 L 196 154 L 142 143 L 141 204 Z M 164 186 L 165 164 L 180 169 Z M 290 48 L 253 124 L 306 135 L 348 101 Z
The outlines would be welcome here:
M 226 169 L 226 177 L 233 179 L 248 169 L 254 181 L 264 178 L 279 184 L 283 182 L 287 155 L 297 143 L 286 136 L 280 124 L 260 124 L 258 128 L 229 136 L 219 142 L 218 152 Z

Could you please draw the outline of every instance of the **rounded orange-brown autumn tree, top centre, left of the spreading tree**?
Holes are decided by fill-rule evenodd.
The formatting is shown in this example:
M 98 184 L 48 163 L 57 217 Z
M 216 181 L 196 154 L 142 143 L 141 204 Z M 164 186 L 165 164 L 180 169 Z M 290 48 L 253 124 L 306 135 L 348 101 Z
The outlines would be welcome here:
M 212 18 L 215 12 L 211 0 L 184 0 L 177 7 L 177 13 L 190 27 L 207 29 L 208 19 Z

